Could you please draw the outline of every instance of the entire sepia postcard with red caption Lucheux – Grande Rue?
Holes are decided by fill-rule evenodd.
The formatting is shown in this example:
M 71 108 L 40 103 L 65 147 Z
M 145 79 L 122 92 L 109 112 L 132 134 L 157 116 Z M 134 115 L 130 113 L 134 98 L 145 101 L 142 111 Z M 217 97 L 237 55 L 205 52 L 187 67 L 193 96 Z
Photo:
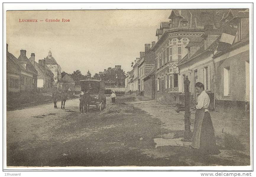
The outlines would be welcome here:
M 5 169 L 252 170 L 251 5 L 6 10 Z

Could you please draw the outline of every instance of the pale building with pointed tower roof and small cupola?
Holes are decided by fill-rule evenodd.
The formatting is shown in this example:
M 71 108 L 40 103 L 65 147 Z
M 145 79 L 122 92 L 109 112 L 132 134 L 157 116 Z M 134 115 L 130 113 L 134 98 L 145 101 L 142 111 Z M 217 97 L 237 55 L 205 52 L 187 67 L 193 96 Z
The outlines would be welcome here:
M 61 67 L 52 56 L 51 50 L 48 52 L 48 56 L 45 58 L 45 64 L 51 70 L 51 72 L 54 73 L 54 86 L 56 86 L 57 82 L 61 79 Z

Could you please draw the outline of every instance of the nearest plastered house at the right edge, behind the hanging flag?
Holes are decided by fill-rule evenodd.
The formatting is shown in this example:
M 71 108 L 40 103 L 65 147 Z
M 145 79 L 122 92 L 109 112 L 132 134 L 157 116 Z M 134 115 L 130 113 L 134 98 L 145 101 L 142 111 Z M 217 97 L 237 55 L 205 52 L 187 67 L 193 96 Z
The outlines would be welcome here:
M 224 20 L 237 29 L 234 43 L 213 56 L 216 66 L 216 106 L 249 110 L 249 11 L 231 11 L 227 16 L 229 19 L 225 20 L 224 17 Z

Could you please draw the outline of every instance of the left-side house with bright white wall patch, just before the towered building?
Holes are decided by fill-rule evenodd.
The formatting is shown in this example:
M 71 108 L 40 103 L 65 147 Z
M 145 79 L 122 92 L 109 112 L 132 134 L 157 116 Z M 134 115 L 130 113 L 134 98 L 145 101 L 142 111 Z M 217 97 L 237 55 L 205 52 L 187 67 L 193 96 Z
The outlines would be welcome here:
M 47 67 L 45 60 L 38 60 L 38 63 L 35 62 L 35 53 L 31 53 L 29 60 L 38 72 L 37 88 L 52 87 L 54 84 L 54 73 L 52 73 L 51 70 Z

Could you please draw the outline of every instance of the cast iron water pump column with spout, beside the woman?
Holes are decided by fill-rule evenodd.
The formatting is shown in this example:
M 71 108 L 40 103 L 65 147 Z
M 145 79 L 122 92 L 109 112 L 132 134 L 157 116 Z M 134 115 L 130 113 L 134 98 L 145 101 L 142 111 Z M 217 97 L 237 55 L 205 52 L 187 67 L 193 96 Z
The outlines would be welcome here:
M 182 141 L 190 141 L 191 139 L 191 131 L 190 131 L 190 125 L 191 125 L 191 121 L 190 121 L 190 107 L 189 107 L 189 83 L 190 81 L 188 80 L 188 76 L 186 77 L 185 81 L 184 81 L 184 92 L 185 92 L 185 105 L 183 106 L 179 106 L 178 109 L 176 110 L 176 112 L 180 112 L 180 111 L 185 111 L 184 114 L 184 125 L 185 125 L 185 130 L 184 130 L 184 138 L 182 139 Z

